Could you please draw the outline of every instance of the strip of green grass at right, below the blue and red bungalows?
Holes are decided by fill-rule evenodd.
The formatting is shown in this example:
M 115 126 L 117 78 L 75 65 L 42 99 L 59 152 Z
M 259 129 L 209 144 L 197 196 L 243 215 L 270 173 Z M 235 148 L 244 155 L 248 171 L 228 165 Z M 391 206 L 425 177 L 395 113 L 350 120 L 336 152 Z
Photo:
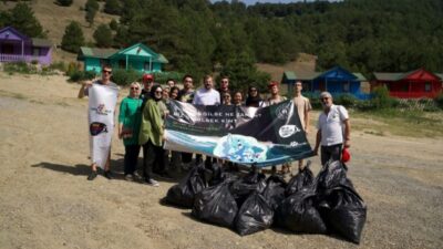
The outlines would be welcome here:
M 371 122 L 369 122 L 371 121 Z M 352 112 L 352 128 L 373 135 L 443 137 L 443 112 L 380 110 Z

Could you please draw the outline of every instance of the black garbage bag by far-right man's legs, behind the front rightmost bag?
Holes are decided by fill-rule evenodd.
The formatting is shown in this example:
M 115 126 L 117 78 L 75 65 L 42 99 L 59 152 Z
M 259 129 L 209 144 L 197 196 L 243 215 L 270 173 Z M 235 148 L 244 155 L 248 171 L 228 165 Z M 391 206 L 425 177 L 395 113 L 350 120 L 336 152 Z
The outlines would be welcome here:
M 340 160 L 327 162 L 316 178 L 318 191 L 327 191 L 343 184 L 347 179 L 347 170 L 348 167 Z

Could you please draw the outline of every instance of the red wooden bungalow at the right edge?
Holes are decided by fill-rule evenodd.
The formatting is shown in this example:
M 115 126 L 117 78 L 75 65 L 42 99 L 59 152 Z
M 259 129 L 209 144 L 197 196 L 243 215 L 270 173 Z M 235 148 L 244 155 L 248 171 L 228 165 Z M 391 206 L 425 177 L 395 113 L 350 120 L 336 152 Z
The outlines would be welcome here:
M 390 95 L 399 98 L 436 97 L 442 92 L 443 74 L 419 69 L 406 73 L 373 73 L 371 91 L 387 85 Z

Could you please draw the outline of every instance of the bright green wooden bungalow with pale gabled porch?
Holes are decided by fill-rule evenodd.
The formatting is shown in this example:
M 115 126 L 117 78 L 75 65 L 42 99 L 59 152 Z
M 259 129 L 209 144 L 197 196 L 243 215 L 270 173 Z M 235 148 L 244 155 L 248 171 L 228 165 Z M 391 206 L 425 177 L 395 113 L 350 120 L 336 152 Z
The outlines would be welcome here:
M 168 63 L 163 54 L 155 53 L 142 43 L 123 50 L 81 46 L 78 60 L 84 62 L 84 71 L 96 73 L 102 71 L 103 64 L 146 73 L 162 72 L 163 64 Z

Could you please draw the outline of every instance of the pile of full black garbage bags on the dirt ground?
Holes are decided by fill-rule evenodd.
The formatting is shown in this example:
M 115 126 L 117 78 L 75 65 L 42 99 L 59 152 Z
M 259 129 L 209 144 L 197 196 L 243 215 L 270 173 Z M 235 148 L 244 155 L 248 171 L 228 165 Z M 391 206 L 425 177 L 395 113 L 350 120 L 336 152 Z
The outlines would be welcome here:
M 168 190 L 166 200 L 241 236 L 275 226 L 296 234 L 332 232 L 360 242 L 367 206 L 339 160 L 328 162 L 317 177 L 308 164 L 289 183 L 278 175 L 266 178 L 254 166 L 239 178 L 217 168 L 206 180 L 204 170 L 193 168 Z

